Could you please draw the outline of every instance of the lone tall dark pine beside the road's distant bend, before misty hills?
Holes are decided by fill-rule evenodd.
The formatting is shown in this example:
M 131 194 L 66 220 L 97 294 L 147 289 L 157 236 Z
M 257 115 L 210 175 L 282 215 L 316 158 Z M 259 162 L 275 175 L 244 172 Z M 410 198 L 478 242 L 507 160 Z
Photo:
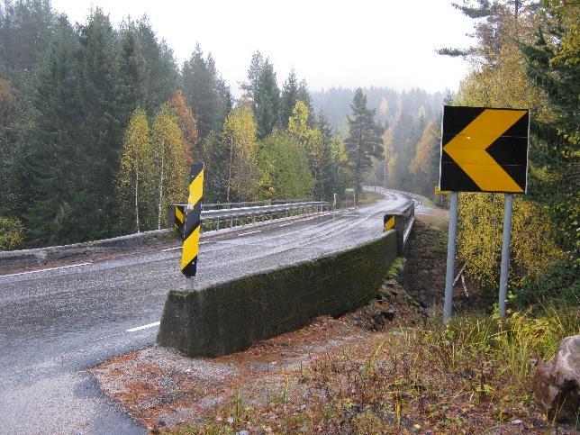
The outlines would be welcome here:
M 355 188 L 362 192 L 362 178 L 371 167 L 371 158 L 383 156 L 383 128 L 376 125 L 376 109 L 367 108 L 367 96 L 359 87 L 350 104 L 349 138 L 345 141 L 349 153 L 349 163 L 353 171 Z M 357 195 L 358 196 L 358 195 Z

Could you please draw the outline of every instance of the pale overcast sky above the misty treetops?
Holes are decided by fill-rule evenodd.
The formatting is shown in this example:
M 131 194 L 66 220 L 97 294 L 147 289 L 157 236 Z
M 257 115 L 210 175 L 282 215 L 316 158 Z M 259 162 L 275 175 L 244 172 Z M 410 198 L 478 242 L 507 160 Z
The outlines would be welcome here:
M 179 63 L 201 44 L 234 95 L 260 50 L 281 85 L 290 68 L 312 90 L 331 86 L 458 89 L 467 64 L 435 53 L 467 47 L 470 20 L 451 0 L 52 0 L 73 23 L 100 6 L 113 24 L 148 14 Z

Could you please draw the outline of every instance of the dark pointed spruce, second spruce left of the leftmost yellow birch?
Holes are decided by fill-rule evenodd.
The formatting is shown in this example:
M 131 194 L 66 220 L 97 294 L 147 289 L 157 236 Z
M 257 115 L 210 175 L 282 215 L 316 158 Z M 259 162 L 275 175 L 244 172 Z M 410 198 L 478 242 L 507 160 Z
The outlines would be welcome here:
M 78 161 L 77 126 L 81 121 L 78 74 L 75 65 L 77 36 L 66 17 L 60 17 L 50 52 L 38 76 L 34 106 L 38 113 L 27 165 L 32 198 L 25 213 L 32 244 L 63 244 L 86 240 L 82 219 L 84 170 Z

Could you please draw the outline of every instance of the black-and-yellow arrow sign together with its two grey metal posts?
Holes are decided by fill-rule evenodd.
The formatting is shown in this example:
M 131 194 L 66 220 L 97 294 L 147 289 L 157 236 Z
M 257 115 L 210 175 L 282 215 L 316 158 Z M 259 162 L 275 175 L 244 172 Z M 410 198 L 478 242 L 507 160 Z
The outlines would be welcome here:
M 458 192 L 505 194 L 498 308 L 505 317 L 512 194 L 525 194 L 528 173 L 527 109 L 443 106 L 440 191 L 451 191 L 443 323 L 453 312 L 453 274 L 458 225 Z

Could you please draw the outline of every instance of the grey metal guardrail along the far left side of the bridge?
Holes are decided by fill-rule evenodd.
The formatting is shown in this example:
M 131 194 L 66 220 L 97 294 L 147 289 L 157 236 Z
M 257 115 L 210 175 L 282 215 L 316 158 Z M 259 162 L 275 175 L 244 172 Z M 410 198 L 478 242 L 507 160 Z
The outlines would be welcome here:
M 300 203 L 288 203 L 286 201 L 276 201 L 282 204 L 267 204 L 249 207 L 231 207 L 238 204 L 260 204 L 255 203 L 228 203 L 227 208 L 215 210 L 202 210 L 202 231 L 220 230 L 224 227 L 235 227 L 249 223 L 264 222 L 282 217 L 289 217 L 304 213 L 318 213 L 331 208 L 326 201 L 303 201 Z M 274 203 L 274 201 L 273 201 Z M 214 204 L 211 204 L 214 205 Z M 176 207 L 182 204 L 169 205 L 168 207 L 168 228 L 175 228 Z

